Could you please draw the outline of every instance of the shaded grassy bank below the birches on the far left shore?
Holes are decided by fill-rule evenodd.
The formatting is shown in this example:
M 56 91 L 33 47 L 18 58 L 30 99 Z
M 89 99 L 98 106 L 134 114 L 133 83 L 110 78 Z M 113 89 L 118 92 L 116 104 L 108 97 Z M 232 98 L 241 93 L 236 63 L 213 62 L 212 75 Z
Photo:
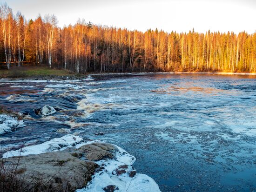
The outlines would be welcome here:
M 7 70 L 0 70 L 0 78 L 23 78 L 36 76 L 71 76 L 74 72 L 67 70 L 51 69 L 48 67 L 12 67 Z

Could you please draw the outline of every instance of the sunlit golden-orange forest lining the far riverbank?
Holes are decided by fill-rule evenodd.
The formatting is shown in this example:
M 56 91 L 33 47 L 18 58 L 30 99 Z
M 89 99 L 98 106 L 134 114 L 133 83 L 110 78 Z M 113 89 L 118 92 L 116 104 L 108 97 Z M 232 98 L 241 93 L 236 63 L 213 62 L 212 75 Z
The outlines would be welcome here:
M 185 25 L 185 24 L 184 24 Z M 256 33 L 166 33 L 97 26 L 57 26 L 54 15 L 25 20 L 0 7 L 0 61 L 47 64 L 76 73 L 256 72 Z M 12 64 L 11 64 L 12 63 Z

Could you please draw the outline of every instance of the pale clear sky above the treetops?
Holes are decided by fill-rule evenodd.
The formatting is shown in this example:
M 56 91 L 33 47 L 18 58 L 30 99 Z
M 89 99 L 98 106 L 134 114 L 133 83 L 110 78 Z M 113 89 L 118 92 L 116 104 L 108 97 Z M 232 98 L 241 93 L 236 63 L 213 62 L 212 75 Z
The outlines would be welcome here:
M 26 19 L 55 14 L 58 26 L 78 18 L 97 25 L 171 32 L 256 32 L 256 0 L 0 0 Z

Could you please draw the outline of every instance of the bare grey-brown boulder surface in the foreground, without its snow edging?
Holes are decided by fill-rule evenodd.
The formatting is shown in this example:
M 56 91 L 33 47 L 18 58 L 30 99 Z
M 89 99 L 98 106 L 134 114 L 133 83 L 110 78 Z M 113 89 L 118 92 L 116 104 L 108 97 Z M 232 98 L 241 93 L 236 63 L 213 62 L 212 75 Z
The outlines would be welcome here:
M 99 167 L 94 161 L 112 159 L 116 150 L 110 144 L 93 143 L 78 149 L 11 157 L 3 159 L 3 162 L 5 167 L 15 169 L 19 161 L 13 179 L 20 182 L 20 178 L 24 177 L 21 191 L 72 192 L 91 180 L 95 169 Z

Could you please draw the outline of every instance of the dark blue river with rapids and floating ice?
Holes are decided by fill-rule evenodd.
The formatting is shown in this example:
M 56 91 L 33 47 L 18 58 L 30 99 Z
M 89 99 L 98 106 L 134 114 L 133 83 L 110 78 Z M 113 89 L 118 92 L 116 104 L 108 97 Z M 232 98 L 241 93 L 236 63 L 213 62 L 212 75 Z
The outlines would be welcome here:
M 44 105 L 57 113 L 37 115 Z M 256 191 L 254 76 L 7 80 L 0 106 L 27 114 L 27 126 L 0 135 L 4 152 L 71 133 L 122 147 L 162 192 Z

